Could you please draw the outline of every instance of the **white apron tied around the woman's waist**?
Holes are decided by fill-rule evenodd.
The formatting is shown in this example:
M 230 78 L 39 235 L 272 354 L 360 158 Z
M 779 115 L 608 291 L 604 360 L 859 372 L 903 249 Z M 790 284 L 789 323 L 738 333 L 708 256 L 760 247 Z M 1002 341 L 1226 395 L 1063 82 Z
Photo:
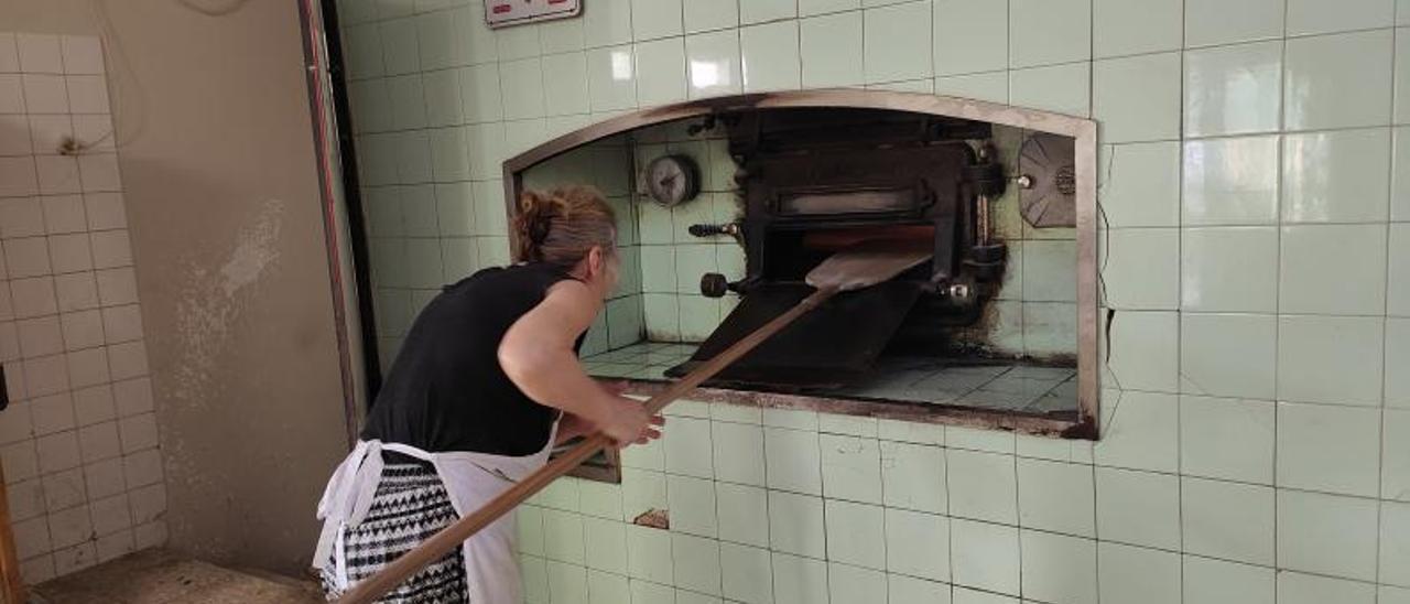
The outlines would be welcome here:
M 513 483 L 523 480 L 548 461 L 548 453 L 557 439 L 558 423 L 548 430 L 548 443 L 543 450 L 522 457 L 498 456 L 471 452 L 429 453 L 413 446 L 361 440 L 352 453 L 333 471 L 323 500 L 319 501 L 319 519 L 323 533 L 313 555 L 314 567 L 323 564 L 337 549 L 336 586 L 347 590 L 345 556 L 343 540 L 338 539 L 343 526 L 357 526 L 367 518 L 372 507 L 372 495 L 382 477 L 382 450 L 402 453 L 430 461 L 436 474 L 446 484 L 451 507 L 461 518 L 479 509 Z M 465 584 L 470 587 L 472 604 L 520 604 L 519 560 L 515 548 L 515 512 L 505 514 L 461 545 L 465 560 Z

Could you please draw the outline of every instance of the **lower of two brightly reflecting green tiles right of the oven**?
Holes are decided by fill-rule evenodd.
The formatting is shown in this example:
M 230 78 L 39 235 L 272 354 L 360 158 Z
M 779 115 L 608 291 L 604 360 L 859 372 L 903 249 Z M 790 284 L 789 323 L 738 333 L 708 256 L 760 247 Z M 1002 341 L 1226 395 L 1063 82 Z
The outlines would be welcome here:
M 1184 224 L 1272 224 L 1277 219 L 1279 138 L 1184 143 Z

